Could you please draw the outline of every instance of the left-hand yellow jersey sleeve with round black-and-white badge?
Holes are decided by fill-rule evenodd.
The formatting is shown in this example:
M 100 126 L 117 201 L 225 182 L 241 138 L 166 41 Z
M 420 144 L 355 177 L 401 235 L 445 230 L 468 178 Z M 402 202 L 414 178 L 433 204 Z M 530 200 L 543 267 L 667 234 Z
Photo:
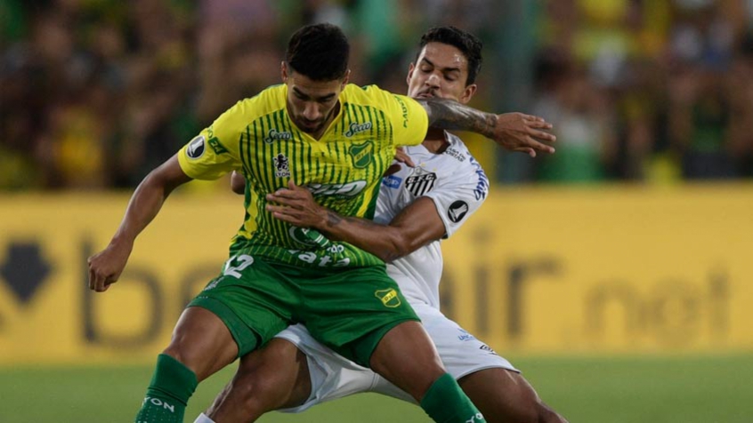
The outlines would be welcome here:
M 178 162 L 195 180 L 216 180 L 240 169 L 239 141 L 245 129 L 243 101 L 228 109 L 178 152 Z

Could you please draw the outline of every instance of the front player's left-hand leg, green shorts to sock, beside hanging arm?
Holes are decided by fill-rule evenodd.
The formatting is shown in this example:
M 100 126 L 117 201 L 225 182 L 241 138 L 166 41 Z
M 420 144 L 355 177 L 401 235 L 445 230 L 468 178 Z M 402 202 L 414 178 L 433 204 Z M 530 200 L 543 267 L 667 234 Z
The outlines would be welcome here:
M 284 278 L 250 256 L 231 258 L 225 269 L 183 312 L 136 422 L 182 422 L 199 381 L 287 326 L 295 295 Z

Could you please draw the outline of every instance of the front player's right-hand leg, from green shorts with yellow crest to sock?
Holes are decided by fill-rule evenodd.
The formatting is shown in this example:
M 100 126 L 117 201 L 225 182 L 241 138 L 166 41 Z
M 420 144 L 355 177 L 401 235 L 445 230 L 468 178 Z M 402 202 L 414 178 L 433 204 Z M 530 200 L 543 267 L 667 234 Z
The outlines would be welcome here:
M 475 423 L 481 413 L 442 367 L 431 339 L 384 267 L 340 270 L 302 284 L 316 339 L 393 381 L 435 421 Z M 333 311 L 336 311 L 333 312 Z

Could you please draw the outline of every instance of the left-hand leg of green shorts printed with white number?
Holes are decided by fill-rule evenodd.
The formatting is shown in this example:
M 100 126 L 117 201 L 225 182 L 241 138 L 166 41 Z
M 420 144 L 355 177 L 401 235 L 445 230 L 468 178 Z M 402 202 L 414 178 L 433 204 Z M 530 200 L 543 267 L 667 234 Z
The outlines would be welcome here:
M 287 277 L 263 259 L 240 254 L 225 263 L 223 272 L 188 307 L 217 315 L 243 356 L 287 327 L 300 297 Z

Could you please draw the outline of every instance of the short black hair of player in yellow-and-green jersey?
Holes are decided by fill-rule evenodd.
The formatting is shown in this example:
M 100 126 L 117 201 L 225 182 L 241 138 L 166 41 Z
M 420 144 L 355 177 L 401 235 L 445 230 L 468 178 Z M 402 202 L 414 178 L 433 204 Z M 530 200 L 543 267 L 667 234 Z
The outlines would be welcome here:
M 342 29 L 320 23 L 300 28 L 290 37 L 285 61 L 289 68 L 314 81 L 335 81 L 345 76 L 350 52 Z

